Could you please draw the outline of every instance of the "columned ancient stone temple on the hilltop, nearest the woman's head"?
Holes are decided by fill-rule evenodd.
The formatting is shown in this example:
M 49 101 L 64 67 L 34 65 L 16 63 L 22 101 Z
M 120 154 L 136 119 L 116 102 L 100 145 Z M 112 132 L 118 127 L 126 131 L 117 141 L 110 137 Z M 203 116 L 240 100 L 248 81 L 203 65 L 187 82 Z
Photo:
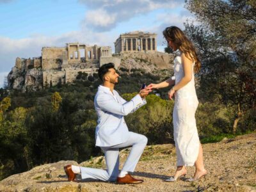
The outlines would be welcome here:
M 115 52 L 157 51 L 157 34 L 133 31 L 119 36 L 115 42 Z

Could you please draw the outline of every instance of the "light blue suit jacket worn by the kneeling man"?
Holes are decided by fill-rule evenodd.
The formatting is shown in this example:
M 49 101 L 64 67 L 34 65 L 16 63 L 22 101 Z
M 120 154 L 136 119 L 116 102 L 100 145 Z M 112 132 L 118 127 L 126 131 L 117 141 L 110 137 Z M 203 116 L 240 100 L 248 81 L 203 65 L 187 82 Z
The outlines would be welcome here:
M 99 86 L 94 106 L 98 115 L 95 131 L 96 146 L 110 147 L 128 140 L 128 127 L 124 116 L 145 105 L 145 99 L 136 95 L 127 102 L 118 92 L 113 93 L 106 86 Z

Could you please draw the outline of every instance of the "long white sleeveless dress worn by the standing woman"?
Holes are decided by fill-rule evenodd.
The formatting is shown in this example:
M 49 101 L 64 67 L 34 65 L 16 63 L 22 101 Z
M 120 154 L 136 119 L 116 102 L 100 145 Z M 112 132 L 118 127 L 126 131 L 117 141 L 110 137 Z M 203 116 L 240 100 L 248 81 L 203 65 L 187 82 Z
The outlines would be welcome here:
M 196 129 L 195 112 L 198 99 L 195 90 L 194 65 L 192 79 L 175 92 L 173 108 L 173 136 L 177 154 L 177 166 L 193 166 L 198 157 L 200 141 Z M 175 84 L 184 77 L 180 56 L 174 60 Z

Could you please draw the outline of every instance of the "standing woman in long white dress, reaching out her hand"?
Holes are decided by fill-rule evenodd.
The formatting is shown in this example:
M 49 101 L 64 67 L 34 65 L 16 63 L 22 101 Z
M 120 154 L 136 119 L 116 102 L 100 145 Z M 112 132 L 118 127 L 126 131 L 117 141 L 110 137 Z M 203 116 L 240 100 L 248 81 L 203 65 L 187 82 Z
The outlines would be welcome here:
M 175 175 L 166 181 L 175 181 L 185 176 L 187 173 L 186 166 L 193 166 L 194 164 L 196 171 L 189 181 L 196 181 L 207 174 L 195 120 L 198 99 L 195 91 L 194 72 L 199 72 L 200 61 L 195 47 L 179 28 L 175 26 L 166 28 L 163 35 L 173 51 L 177 51 L 177 49 L 180 51 L 180 56 L 174 60 L 175 78 L 171 77 L 161 83 L 148 86 L 151 89 L 158 89 L 175 84 L 168 95 L 170 99 L 175 95 L 173 136 L 177 154 L 177 170 Z

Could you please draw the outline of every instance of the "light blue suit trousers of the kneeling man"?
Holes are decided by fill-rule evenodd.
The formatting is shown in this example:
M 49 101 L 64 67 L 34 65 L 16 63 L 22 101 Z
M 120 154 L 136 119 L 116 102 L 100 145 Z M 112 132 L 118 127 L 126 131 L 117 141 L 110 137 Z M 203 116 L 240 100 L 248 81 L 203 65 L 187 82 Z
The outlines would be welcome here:
M 120 143 L 111 147 L 101 147 L 106 160 L 107 170 L 100 170 L 96 168 L 80 167 L 82 179 L 99 179 L 113 182 L 118 177 L 119 173 L 119 148 L 132 146 L 131 152 L 127 157 L 123 172 L 134 172 L 134 169 L 147 145 L 148 139 L 142 134 L 129 132 L 129 139 L 125 143 Z

